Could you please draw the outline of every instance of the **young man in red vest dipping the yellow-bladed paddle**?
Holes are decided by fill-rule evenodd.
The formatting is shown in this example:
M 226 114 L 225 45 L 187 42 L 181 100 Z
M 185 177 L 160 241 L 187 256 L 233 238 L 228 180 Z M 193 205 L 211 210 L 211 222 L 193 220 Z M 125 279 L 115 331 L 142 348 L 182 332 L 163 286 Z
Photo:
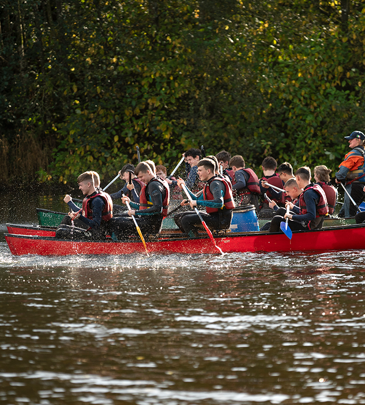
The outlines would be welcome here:
M 151 166 L 145 161 L 136 166 L 134 173 L 144 184 L 139 195 L 139 204 L 131 201 L 129 197 L 122 197 L 123 204 L 126 201 L 130 203 L 128 217 L 115 217 L 109 221 L 109 233 L 118 239 L 130 235 L 138 236 L 132 215 L 135 216 L 143 234 L 161 232 L 162 220 L 167 215 L 170 190 L 166 181 L 156 177 Z

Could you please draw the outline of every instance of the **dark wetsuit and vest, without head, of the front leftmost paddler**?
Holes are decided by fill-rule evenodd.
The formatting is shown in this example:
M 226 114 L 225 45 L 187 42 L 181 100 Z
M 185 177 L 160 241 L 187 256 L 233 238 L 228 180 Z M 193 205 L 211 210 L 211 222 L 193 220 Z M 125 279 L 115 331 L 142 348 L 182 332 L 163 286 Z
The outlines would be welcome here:
M 85 197 L 90 198 L 88 204 L 92 214 L 89 214 L 89 218 L 86 215 L 84 216 L 82 213 L 80 213 L 80 217 L 78 218 L 78 221 L 85 224 L 87 229 L 73 226 L 71 218 L 68 215 L 65 215 L 60 225 L 56 229 L 56 238 L 78 240 L 105 239 L 107 221 L 103 220 L 103 212 L 105 211 L 105 204 L 108 205 L 108 203 L 105 202 L 105 199 L 101 195 L 97 195 L 99 192 L 99 190 L 96 190 L 92 194 Z M 111 203 L 111 200 L 109 202 Z M 80 210 L 80 208 L 75 205 L 72 200 L 68 201 L 67 205 L 70 208 L 70 211 L 78 212 Z M 108 210 L 110 210 L 110 208 L 113 210 L 113 204 L 112 207 L 108 208 Z

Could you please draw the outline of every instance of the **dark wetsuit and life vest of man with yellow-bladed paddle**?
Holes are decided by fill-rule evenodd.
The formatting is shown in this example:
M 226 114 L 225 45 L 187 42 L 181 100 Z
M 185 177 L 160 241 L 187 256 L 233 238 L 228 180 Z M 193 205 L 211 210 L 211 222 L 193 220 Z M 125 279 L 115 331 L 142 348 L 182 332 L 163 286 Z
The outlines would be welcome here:
M 157 178 L 152 179 L 142 187 L 140 197 L 145 195 L 147 208 L 141 209 L 141 204 L 130 202 L 132 210 L 136 210 L 135 219 L 143 234 L 156 234 L 161 232 L 163 212 L 168 206 L 169 187 L 168 184 Z M 138 231 L 133 219 L 128 216 L 113 217 L 108 223 L 109 233 L 113 238 L 123 239 L 134 235 L 138 236 Z

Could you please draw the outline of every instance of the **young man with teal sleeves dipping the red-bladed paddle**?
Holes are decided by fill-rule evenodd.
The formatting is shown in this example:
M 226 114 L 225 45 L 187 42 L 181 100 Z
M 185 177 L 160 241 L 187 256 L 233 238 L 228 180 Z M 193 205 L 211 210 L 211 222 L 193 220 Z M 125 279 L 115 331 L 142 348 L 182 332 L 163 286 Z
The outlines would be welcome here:
M 199 197 L 189 190 L 193 200 L 185 200 L 184 204 L 191 208 L 205 207 L 206 212 L 200 214 L 209 229 L 229 229 L 235 208 L 231 186 L 226 179 L 215 175 L 215 163 L 211 159 L 201 159 L 197 167 L 200 180 L 206 184 Z M 181 187 L 181 183 L 185 182 L 178 179 L 177 183 Z M 198 229 L 203 228 L 196 212 L 176 214 L 174 220 L 181 232 L 189 236 L 198 236 Z

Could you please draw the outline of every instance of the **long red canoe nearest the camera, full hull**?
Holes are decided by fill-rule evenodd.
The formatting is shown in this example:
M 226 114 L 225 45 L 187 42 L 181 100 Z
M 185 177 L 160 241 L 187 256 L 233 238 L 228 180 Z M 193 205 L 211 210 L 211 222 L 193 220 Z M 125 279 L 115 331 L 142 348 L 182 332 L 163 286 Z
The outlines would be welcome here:
M 126 241 L 77 241 L 38 235 L 5 234 L 13 255 L 124 255 L 145 253 L 140 239 Z M 186 238 L 178 234 L 161 234 L 146 238 L 150 253 L 215 254 L 208 236 Z M 365 225 L 335 226 L 314 231 L 295 231 L 289 240 L 282 232 L 227 233 L 215 242 L 225 253 L 233 252 L 325 252 L 365 248 Z

